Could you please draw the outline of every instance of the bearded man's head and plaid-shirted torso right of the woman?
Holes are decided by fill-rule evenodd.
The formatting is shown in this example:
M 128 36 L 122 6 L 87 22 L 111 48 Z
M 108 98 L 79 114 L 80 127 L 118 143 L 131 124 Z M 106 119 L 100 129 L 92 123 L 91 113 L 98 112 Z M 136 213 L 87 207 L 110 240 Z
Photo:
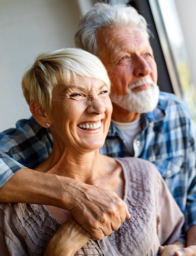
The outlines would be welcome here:
M 113 85 L 112 123 L 102 152 L 153 162 L 185 214 L 187 245 L 196 244 L 194 130 L 179 100 L 159 94 L 145 19 L 133 8 L 97 4 L 81 20 L 75 41 L 100 57 Z

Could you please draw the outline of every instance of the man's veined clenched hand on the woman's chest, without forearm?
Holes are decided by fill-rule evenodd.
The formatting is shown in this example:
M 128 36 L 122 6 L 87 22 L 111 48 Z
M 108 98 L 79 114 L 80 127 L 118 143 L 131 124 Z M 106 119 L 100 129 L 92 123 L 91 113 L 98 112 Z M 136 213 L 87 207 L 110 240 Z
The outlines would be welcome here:
M 68 210 L 94 240 L 111 234 L 125 219 L 130 218 L 126 204 L 113 191 L 76 180 L 70 191 Z

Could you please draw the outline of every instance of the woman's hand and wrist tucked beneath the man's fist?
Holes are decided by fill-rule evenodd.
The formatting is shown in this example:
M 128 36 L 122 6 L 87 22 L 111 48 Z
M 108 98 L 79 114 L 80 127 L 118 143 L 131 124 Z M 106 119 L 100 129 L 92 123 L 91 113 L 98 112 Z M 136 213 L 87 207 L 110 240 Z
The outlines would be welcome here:
M 71 216 L 51 238 L 44 256 L 73 256 L 91 235 Z

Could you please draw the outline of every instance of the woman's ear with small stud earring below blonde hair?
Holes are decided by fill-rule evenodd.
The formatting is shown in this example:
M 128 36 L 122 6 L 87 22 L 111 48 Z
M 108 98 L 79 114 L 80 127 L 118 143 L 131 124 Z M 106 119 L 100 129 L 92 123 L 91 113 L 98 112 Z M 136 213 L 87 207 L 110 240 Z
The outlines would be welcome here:
M 36 100 L 31 100 L 29 104 L 30 111 L 34 117 L 34 119 L 43 127 L 49 127 L 51 125 L 51 120 L 46 113 L 45 109 L 43 109 Z

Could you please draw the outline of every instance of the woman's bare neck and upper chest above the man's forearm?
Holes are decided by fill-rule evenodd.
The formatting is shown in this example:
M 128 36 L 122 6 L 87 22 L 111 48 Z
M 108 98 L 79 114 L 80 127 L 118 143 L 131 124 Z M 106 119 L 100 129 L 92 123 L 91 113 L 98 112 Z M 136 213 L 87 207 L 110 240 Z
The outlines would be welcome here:
M 51 155 L 36 170 L 113 190 L 123 198 L 124 177 L 121 165 L 114 158 L 100 154 L 98 150 L 76 152 L 73 148 L 59 150 L 59 147 L 53 147 Z

